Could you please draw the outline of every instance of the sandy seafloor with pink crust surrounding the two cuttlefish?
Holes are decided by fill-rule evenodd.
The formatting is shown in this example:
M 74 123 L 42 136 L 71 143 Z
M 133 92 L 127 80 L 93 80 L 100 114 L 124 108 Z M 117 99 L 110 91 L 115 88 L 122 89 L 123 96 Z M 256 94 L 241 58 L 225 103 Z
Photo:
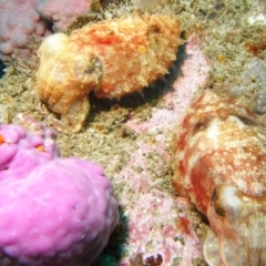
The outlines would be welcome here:
M 238 98 L 247 106 L 254 93 L 266 90 L 265 0 L 109 2 L 105 17 L 144 9 L 174 13 L 184 44 L 163 80 L 120 100 L 90 95 L 84 129 L 58 134 L 62 156 L 104 167 L 120 204 L 120 224 L 93 265 L 205 265 L 201 241 L 207 222 L 171 183 L 175 134 L 205 89 Z M 0 80 L 1 121 L 27 113 L 47 123 L 34 93 L 39 42 L 31 45 L 31 58 L 12 62 Z

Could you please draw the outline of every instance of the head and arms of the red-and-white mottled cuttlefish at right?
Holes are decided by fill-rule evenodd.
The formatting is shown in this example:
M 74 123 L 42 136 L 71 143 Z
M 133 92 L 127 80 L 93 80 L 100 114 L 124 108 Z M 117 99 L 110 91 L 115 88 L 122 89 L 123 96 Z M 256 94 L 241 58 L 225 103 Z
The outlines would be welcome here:
M 203 244 L 209 266 L 266 265 L 266 195 L 250 196 L 228 184 L 215 187 Z M 214 233 L 215 232 L 215 233 Z

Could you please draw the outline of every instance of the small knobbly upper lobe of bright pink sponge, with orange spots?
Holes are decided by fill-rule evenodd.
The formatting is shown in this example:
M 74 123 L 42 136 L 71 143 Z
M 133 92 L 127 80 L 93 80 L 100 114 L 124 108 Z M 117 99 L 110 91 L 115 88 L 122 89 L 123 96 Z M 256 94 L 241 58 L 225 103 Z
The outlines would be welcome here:
M 27 133 L 16 124 L 0 125 L 0 181 L 24 178 L 38 165 L 59 156 L 53 131 Z

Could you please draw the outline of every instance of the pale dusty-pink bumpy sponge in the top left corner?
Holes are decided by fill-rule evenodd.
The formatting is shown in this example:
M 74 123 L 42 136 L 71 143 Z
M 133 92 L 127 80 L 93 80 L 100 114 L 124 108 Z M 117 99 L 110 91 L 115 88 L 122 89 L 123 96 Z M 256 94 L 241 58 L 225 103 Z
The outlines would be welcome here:
M 32 34 L 51 34 L 51 23 L 54 31 L 63 31 L 90 7 L 91 0 L 0 0 L 0 60 L 29 54 Z

